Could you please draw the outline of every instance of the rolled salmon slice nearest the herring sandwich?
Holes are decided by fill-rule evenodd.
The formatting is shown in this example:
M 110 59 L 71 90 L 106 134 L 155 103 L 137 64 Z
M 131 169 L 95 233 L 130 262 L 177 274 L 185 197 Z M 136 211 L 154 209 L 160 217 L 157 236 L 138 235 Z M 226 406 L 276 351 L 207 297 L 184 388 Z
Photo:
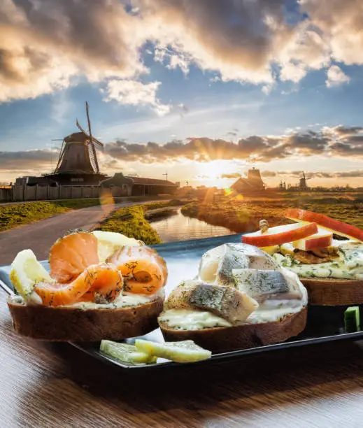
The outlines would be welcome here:
M 115 264 L 124 277 L 124 291 L 154 294 L 166 284 L 166 263 L 152 248 L 125 245 L 108 262 Z

